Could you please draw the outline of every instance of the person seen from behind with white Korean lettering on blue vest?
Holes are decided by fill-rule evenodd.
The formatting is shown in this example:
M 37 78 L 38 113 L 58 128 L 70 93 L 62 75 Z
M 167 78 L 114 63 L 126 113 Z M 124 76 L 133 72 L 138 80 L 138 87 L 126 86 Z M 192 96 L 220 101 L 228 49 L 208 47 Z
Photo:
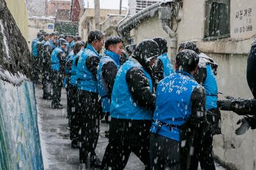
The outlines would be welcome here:
M 157 85 L 150 129 L 151 169 L 188 169 L 194 136 L 202 133 L 206 122 L 205 90 L 193 78 L 198 61 L 194 51 L 180 51 L 175 73 Z

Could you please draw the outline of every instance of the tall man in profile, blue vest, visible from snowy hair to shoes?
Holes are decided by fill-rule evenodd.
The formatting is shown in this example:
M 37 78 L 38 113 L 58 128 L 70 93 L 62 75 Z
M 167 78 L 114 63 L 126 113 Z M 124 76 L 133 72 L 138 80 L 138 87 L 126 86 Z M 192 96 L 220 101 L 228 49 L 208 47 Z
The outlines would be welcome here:
M 99 138 L 99 120 L 102 112 L 97 87 L 97 67 L 104 45 L 104 33 L 99 30 L 89 32 L 88 44 L 77 63 L 77 114 L 80 118 L 82 143 L 79 148 L 79 160 L 82 166 L 100 166 L 95 155 Z

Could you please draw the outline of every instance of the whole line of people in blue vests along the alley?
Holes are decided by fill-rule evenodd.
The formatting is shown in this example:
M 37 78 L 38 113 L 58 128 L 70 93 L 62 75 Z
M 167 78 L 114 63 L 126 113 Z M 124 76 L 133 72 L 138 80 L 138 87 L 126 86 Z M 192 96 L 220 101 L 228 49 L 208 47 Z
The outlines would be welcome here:
M 175 64 L 161 37 L 125 50 L 122 38 L 105 38 L 99 30 L 90 31 L 86 42 L 40 31 L 32 43 L 33 81 L 40 83 L 42 70 L 43 98 L 60 109 L 61 87 L 67 90 L 71 146 L 79 148 L 83 167 L 124 169 L 133 152 L 145 169 L 192 170 L 200 162 L 201 169 L 214 170 L 219 108 L 231 110 L 237 101 L 218 101 L 218 64 L 193 41 L 180 44 Z M 109 124 L 102 161 L 95 153 L 100 120 Z

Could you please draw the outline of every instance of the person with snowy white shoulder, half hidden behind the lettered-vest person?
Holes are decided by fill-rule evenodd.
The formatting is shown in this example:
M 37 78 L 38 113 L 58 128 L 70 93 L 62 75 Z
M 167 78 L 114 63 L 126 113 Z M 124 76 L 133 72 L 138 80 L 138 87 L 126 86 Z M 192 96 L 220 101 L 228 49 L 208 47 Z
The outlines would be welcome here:
M 181 43 L 180 50 L 189 49 L 193 50 L 199 55 L 198 70 L 194 74 L 195 80 L 205 89 L 205 110 L 207 122 L 210 128 L 204 134 L 202 142 L 195 139 L 194 146 L 195 152 L 191 157 L 191 164 L 189 169 L 198 169 L 198 162 L 202 169 L 215 169 L 214 159 L 212 156 L 212 137 L 214 134 L 221 134 L 221 113 L 217 106 L 218 87 L 216 82 L 216 64 L 211 58 L 204 53 L 200 53 L 198 47 L 193 41 L 185 41 Z M 200 139 L 200 136 L 198 136 Z

